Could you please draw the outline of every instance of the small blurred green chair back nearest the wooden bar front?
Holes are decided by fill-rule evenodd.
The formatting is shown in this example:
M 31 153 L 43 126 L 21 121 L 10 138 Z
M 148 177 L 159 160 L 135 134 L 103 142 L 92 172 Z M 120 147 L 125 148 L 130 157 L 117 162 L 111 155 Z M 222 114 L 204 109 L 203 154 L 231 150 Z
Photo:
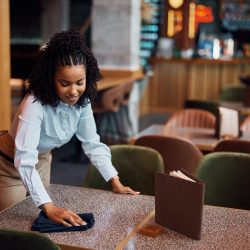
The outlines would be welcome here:
M 227 85 L 219 95 L 219 100 L 224 102 L 242 102 L 246 87 L 244 85 Z

